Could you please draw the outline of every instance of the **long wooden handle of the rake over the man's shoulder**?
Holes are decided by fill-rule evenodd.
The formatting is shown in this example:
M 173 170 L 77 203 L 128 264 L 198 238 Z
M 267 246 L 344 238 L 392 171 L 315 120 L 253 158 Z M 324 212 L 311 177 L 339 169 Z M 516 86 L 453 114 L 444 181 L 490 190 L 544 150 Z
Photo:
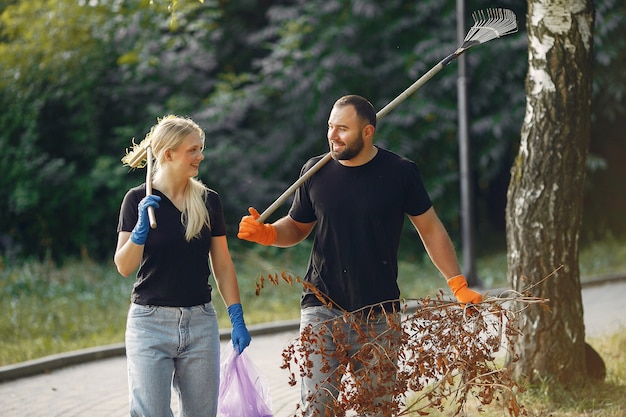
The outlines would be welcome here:
M 395 99 L 393 99 L 389 104 L 387 104 L 385 107 L 383 107 L 381 110 L 379 110 L 378 113 L 376 113 L 376 120 L 379 120 L 380 118 L 385 116 L 387 113 L 389 113 L 391 110 L 393 110 L 396 106 L 398 106 L 398 104 L 400 104 L 404 100 L 406 100 L 407 97 L 409 97 L 411 94 L 413 94 L 415 91 L 417 91 L 418 88 L 420 88 L 422 85 L 424 85 L 435 74 L 437 74 L 439 71 L 441 71 L 443 69 L 443 67 L 448 65 L 450 62 L 452 62 L 454 59 L 456 59 L 463 52 L 464 52 L 464 50 L 458 49 L 454 53 L 448 55 L 447 57 L 445 57 L 444 59 L 439 61 L 439 63 L 437 65 L 435 65 L 433 68 L 431 68 L 430 71 L 428 71 L 426 74 L 422 75 L 417 81 L 415 81 L 413 84 L 411 84 L 409 86 L 409 88 L 404 90 L 400 95 L 398 95 Z M 331 156 L 330 152 L 328 152 L 326 155 L 324 155 L 324 157 L 322 159 L 317 161 L 315 163 L 315 165 L 313 165 L 307 172 L 302 174 L 302 176 L 300 178 L 298 178 L 296 180 L 296 182 L 294 182 L 289 188 L 287 188 L 285 190 L 285 192 L 283 192 L 280 195 L 280 197 L 278 197 L 276 199 L 276 201 L 274 201 L 267 209 L 265 209 L 265 211 L 263 213 L 261 213 L 261 216 L 257 219 L 257 221 L 259 223 L 265 222 L 265 220 L 267 220 L 267 218 L 272 213 L 274 213 L 276 211 L 276 209 L 278 209 L 278 207 L 280 207 L 281 205 L 283 205 L 283 203 L 285 203 L 287 198 L 289 198 L 289 196 L 291 194 L 293 194 L 298 189 L 298 187 L 300 187 L 302 184 L 304 184 L 304 182 L 306 180 L 311 178 L 313 176 L 313 174 L 315 174 L 317 171 L 319 171 L 320 168 L 322 168 L 324 165 L 326 165 L 326 163 L 328 163 L 331 159 L 332 159 L 332 156 Z

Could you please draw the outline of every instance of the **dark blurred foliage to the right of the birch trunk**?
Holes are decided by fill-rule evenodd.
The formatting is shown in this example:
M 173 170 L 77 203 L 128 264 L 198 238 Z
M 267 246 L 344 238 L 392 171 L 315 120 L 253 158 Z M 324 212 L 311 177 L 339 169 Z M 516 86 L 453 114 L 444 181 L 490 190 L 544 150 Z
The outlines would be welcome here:
M 626 234 L 621 192 L 626 178 L 624 129 L 626 115 L 626 4 L 596 2 L 592 140 L 586 184 L 582 236 L 597 239 L 607 233 Z

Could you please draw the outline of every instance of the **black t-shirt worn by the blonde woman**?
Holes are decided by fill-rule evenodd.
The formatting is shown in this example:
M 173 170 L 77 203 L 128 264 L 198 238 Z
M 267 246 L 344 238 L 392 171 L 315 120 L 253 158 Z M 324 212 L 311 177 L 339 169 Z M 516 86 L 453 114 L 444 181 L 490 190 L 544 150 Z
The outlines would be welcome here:
M 161 197 L 159 208 L 155 209 L 157 228 L 148 233 L 131 294 L 132 302 L 190 307 L 211 301 L 211 285 L 208 282 L 211 274 L 211 237 L 226 235 L 219 195 L 209 189 L 206 196 L 211 230 L 204 226 L 199 238 L 187 242 L 180 210 L 165 194 L 156 189 L 153 192 Z M 120 210 L 118 232 L 133 230 L 137 223 L 137 204 L 145 195 L 145 184 L 126 193 Z

